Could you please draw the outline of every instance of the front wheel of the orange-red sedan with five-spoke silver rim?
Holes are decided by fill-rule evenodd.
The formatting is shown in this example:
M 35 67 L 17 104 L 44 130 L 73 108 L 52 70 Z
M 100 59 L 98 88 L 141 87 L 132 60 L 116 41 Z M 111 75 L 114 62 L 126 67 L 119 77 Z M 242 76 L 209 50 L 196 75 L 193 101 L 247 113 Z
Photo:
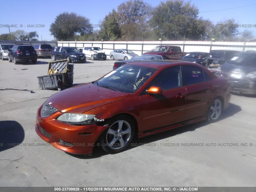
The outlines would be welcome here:
M 128 148 L 134 138 L 134 123 L 128 116 L 117 116 L 110 120 L 109 128 L 102 137 L 104 151 L 115 154 Z

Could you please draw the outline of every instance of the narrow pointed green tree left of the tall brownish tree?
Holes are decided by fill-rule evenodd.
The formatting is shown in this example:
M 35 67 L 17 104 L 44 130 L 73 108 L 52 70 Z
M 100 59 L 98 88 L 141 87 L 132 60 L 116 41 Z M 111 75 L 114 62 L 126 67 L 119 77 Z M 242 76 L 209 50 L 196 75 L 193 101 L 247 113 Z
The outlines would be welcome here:
M 122 36 L 118 16 L 114 9 L 101 22 L 99 35 L 106 41 L 114 41 Z

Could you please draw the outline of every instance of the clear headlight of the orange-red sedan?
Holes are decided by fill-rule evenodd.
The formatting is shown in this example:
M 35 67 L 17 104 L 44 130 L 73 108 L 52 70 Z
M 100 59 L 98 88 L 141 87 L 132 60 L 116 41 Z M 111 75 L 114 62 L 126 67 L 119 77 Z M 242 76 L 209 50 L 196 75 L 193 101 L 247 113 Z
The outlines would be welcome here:
M 97 119 L 95 115 L 78 114 L 78 113 L 64 113 L 57 118 L 58 121 L 68 124 L 92 124 L 96 121 L 104 121 L 104 119 Z

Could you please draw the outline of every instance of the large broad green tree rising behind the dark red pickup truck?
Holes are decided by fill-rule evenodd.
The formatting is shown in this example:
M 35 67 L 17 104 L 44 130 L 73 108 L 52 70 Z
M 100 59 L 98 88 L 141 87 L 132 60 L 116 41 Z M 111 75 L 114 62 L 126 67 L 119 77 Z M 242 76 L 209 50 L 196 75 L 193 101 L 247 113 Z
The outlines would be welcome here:
M 202 39 L 205 34 L 204 20 L 198 18 L 198 8 L 183 0 L 161 2 L 152 12 L 150 24 L 154 33 L 168 40 Z

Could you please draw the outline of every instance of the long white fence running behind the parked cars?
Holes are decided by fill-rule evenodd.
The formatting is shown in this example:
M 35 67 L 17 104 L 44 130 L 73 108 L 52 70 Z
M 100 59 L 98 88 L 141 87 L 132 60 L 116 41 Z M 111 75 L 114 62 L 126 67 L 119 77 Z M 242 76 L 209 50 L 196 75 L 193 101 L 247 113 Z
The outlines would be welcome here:
M 114 49 L 130 49 L 138 55 L 152 50 L 158 45 L 175 45 L 180 46 L 183 52 L 210 52 L 210 50 L 226 49 L 226 50 L 238 50 L 256 51 L 256 42 L 211 42 L 211 41 L 58 41 L 58 46 L 70 46 L 83 48 L 86 46 L 100 47 L 105 50 L 106 54 Z

